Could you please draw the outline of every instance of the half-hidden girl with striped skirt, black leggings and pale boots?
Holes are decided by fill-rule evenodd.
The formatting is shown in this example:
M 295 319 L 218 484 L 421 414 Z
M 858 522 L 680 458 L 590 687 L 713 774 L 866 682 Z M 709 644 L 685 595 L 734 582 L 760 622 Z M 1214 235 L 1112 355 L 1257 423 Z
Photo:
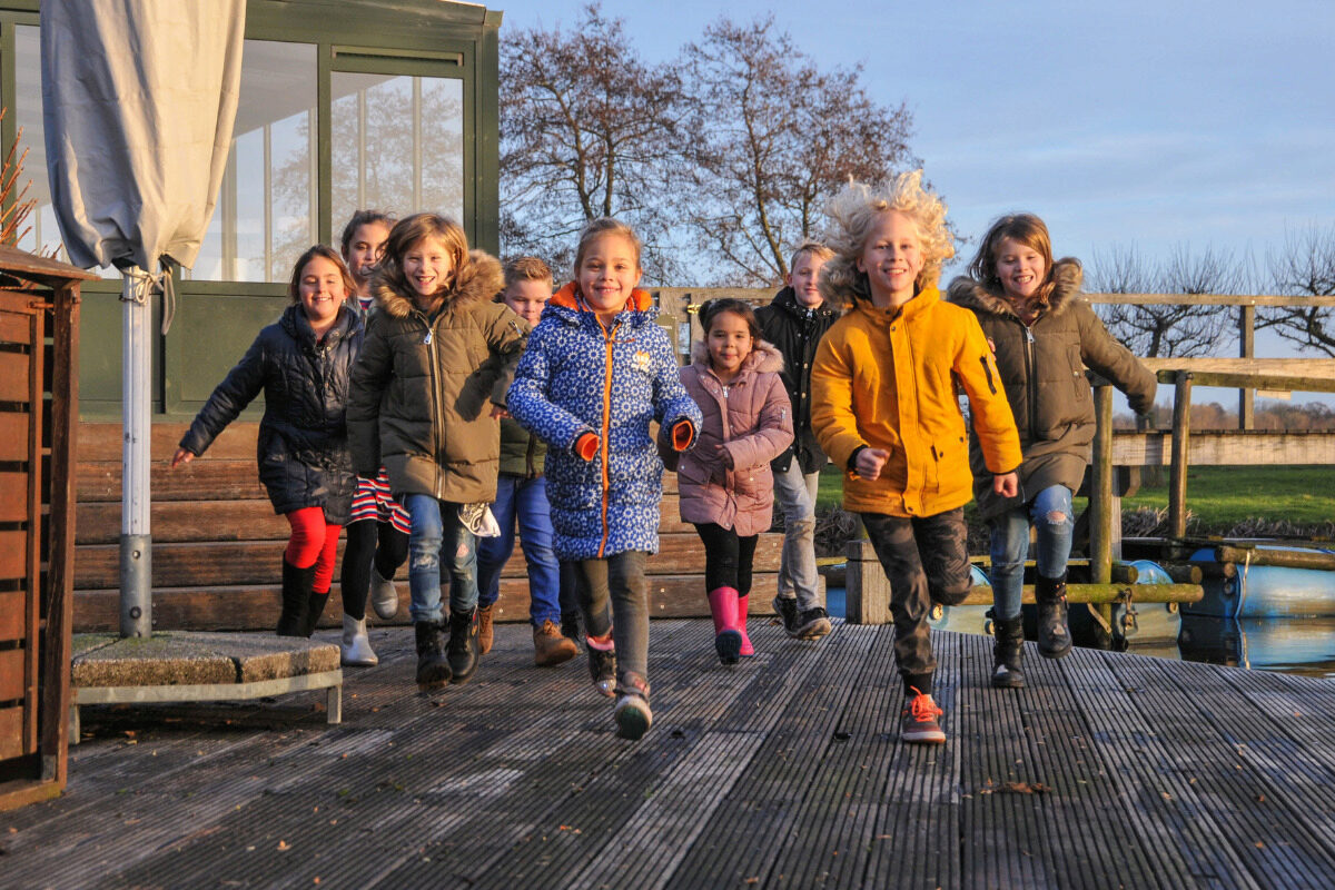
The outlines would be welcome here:
M 356 291 L 348 294 L 348 304 L 363 315 L 375 304 L 371 282 L 384 255 L 391 226 L 394 217 L 388 213 L 360 209 L 343 227 L 343 262 L 356 284 Z M 375 614 L 394 618 L 399 610 L 394 574 L 407 555 L 409 511 L 390 494 L 384 467 L 375 478 L 358 476 L 339 587 L 343 595 L 343 636 L 339 640 L 343 664 L 370 667 L 380 662 L 366 634 L 366 600 L 374 590 Z

